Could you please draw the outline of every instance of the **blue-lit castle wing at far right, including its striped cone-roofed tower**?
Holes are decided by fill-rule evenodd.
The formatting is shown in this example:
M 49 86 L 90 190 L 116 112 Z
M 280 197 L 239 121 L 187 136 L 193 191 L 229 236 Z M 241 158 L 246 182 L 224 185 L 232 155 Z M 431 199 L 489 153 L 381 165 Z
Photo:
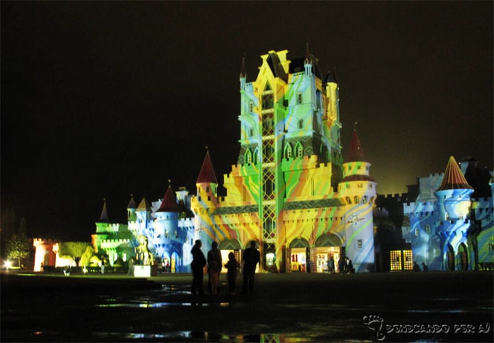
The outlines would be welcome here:
M 492 175 L 475 160 L 458 165 L 452 156 L 444 174 L 419 178 L 416 201 L 404 204 L 413 261 L 429 270 L 493 268 L 493 193 Z

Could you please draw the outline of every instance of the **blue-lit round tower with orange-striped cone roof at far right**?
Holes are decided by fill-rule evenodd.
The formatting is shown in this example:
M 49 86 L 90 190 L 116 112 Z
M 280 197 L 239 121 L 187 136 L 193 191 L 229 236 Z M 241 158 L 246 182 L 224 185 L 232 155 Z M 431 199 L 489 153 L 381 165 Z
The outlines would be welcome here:
M 434 192 L 439 208 L 440 225 L 436 229 L 436 234 L 439 236 L 441 249 L 439 257 L 442 259 L 440 262 L 442 262 L 443 270 L 454 270 L 457 264 L 461 264 L 455 260 L 460 246 L 466 254 L 468 225 L 464 223 L 469 217 L 472 192 L 473 188 L 466 181 L 454 157 L 451 156 L 441 185 Z

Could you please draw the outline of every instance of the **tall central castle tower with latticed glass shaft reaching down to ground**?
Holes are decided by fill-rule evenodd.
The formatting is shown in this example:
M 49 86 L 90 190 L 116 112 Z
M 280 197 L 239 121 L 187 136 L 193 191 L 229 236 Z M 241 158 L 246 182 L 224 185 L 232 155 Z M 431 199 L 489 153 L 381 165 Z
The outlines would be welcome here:
M 245 186 L 258 206 L 261 255 L 273 258 L 278 267 L 287 245 L 285 203 L 302 197 L 306 200 L 305 196 L 331 196 L 341 178 L 341 125 L 335 78 L 328 74 L 323 81 L 308 44 L 302 58 L 288 60 L 287 53 L 288 50 L 269 51 L 262 55 L 259 73 L 252 83 L 247 83 L 245 60 L 240 74 L 238 164 L 254 167 L 244 169 L 250 171 L 247 174 L 254 181 Z M 331 167 L 326 175 L 330 181 L 319 194 L 314 178 L 309 177 L 309 158 L 314 162 L 312 167 L 321 163 Z

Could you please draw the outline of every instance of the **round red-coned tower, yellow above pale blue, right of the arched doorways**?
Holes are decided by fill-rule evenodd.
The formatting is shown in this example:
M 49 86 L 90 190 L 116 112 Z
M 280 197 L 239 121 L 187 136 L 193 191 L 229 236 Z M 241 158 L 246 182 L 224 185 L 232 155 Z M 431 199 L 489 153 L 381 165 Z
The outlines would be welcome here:
M 343 179 L 338 193 L 345 220 L 345 255 L 357 272 L 371 271 L 374 264 L 374 227 L 372 209 L 376 182 L 371 178 L 371 164 L 354 129 L 348 158 L 343 164 Z

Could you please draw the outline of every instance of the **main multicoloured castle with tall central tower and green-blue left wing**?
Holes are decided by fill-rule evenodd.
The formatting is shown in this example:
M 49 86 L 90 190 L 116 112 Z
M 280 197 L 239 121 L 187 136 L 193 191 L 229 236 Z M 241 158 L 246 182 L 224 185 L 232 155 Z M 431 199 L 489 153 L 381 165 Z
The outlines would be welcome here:
M 276 271 L 323 271 L 327 260 L 348 257 L 357 271 L 373 268 L 372 208 L 376 183 L 354 130 L 348 159 L 342 163 L 338 84 L 334 73 L 322 77 L 318 60 L 289 60 L 287 50 L 261 56 L 257 78 L 240 74 L 240 154 L 224 175 L 227 196 L 206 158 L 197 194 L 168 187 L 150 205 L 130 200 L 128 225 L 111 224 L 104 207 L 93 245 L 110 261 L 132 255 L 146 237 L 156 257 L 172 270 L 188 271 L 190 250 L 201 239 L 222 254 L 240 257 L 249 241 L 258 242 L 261 267 Z M 177 200 L 178 198 L 178 200 Z M 190 212 L 191 209 L 193 213 Z M 225 258 L 226 259 L 226 258 Z

